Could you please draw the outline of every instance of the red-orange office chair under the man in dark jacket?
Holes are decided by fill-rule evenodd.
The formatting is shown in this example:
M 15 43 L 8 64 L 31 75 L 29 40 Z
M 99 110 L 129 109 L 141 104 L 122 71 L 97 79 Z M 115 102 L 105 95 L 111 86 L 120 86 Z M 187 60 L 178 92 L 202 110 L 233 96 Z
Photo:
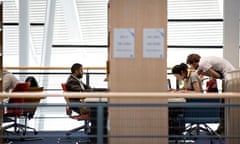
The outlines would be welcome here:
M 61 87 L 62 87 L 62 90 L 64 92 L 67 92 L 67 88 L 66 88 L 66 84 L 65 83 L 62 83 L 61 84 Z M 70 100 L 67 96 L 64 97 L 66 103 L 67 103 L 67 106 L 66 106 L 66 114 L 71 118 L 71 119 L 74 119 L 74 120 L 77 120 L 77 121 L 84 121 L 84 124 L 82 126 L 79 126 L 77 128 L 74 128 L 74 129 L 71 129 L 69 131 L 67 131 L 66 133 L 66 136 L 67 139 L 63 140 L 61 138 L 58 139 L 58 143 L 62 143 L 62 142 L 66 142 L 66 141 L 71 141 L 70 139 L 70 135 L 72 135 L 74 132 L 79 132 L 79 131 L 83 131 L 84 134 L 88 134 L 89 130 L 90 130 L 90 114 L 89 113 L 86 113 L 86 114 L 78 114 L 78 115 L 73 115 L 73 111 L 72 109 L 70 108 L 69 104 L 70 104 Z M 75 143 L 80 143 L 79 140 L 73 140 L 73 141 L 76 141 Z M 89 142 L 87 140 L 87 142 Z

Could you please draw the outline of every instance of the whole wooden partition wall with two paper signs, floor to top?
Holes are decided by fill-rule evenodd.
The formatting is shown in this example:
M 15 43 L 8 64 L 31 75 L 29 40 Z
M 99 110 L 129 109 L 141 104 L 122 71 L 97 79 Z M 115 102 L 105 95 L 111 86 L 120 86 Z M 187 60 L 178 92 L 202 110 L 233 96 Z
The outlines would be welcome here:
M 165 92 L 167 1 L 109 1 L 109 89 Z M 110 98 L 109 103 L 167 103 L 167 99 Z M 167 136 L 167 108 L 109 108 L 111 136 Z M 167 144 L 168 138 L 110 138 L 109 143 Z

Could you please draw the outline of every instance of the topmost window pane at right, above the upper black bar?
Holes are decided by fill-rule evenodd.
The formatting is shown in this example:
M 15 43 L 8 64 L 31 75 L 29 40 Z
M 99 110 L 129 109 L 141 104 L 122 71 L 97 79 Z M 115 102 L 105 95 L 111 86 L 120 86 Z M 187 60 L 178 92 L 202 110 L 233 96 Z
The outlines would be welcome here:
M 168 0 L 169 19 L 222 19 L 223 0 Z

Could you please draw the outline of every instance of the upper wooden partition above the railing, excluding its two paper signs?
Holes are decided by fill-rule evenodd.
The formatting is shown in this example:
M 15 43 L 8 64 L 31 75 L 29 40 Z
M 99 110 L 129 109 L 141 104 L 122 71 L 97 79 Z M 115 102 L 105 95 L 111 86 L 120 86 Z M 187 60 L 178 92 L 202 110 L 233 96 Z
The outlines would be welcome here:
M 111 0 L 109 12 L 111 91 L 166 91 L 166 1 Z M 113 58 L 114 28 L 135 29 L 135 58 Z M 143 29 L 163 28 L 164 58 L 143 58 Z

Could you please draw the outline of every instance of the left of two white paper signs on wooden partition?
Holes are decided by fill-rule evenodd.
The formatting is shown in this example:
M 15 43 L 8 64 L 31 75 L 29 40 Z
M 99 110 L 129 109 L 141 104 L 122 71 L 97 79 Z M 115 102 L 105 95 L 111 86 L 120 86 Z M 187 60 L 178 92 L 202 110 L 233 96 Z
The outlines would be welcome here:
M 113 57 L 134 58 L 135 31 L 133 28 L 115 28 L 113 34 Z

